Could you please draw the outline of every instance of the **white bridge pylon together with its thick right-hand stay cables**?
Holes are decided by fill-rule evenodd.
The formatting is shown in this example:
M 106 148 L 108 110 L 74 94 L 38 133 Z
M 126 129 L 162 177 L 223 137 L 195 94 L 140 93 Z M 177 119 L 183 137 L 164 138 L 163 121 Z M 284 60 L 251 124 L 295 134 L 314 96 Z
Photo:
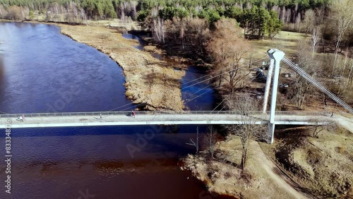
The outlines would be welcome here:
M 263 114 L 266 113 L 267 105 L 268 105 L 268 95 L 270 94 L 270 85 L 273 78 L 272 84 L 272 95 L 271 95 L 271 104 L 270 104 L 270 121 L 268 122 L 268 135 L 269 140 L 268 143 L 273 143 L 273 136 L 275 133 L 275 109 L 276 109 L 276 101 L 277 101 L 277 90 L 278 90 L 278 79 L 280 76 L 280 61 L 285 62 L 288 66 L 290 66 L 294 71 L 296 71 L 300 76 L 305 78 L 309 83 L 313 84 L 321 90 L 326 95 L 328 95 L 332 100 L 340 104 L 347 111 L 353 114 L 353 108 L 349 106 L 346 102 L 337 97 L 333 92 L 330 92 L 327 88 L 325 88 L 321 83 L 315 80 L 313 77 L 309 76 L 303 69 L 299 68 L 296 64 L 285 57 L 285 53 L 280 51 L 279 49 L 269 49 L 268 56 L 270 56 L 270 66 L 268 68 L 268 76 L 266 80 L 265 86 L 265 96 L 263 97 Z

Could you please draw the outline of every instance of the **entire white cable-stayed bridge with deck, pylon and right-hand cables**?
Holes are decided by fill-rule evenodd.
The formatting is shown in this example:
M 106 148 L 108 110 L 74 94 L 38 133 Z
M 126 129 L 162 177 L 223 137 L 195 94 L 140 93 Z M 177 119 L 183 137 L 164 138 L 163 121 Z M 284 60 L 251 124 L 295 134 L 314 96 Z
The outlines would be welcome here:
M 273 143 L 275 125 L 323 125 L 335 121 L 331 114 L 323 112 L 275 111 L 277 101 L 280 61 L 303 76 L 316 88 L 353 114 L 353 108 L 345 103 L 321 83 L 309 76 L 299 66 L 285 57 L 278 49 L 268 50 L 270 66 L 265 86 L 263 111 L 106 111 L 83 113 L 44 113 L 44 114 L 0 114 L 0 128 L 41 128 L 64 126 L 131 126 L 131 125 L 184 125 L 184 124 L 268 124 L 269 143 Z M 227 73 L 227 72 L 226 72 Z M 214 77 L 213 77 L 214 78 Z M 205 80 L 198 80 L 203 82 Z M 267 111 L 268 97 L 272 85 L 270 111 Z M 199 92 L 199 91 L 198 91 Z M 203 94 L 201 94 L 203 95 Z M 201 95 L 198 95 L 200 97 Z M 196 99 L 194 97 L 192 100 Z M 349 121 L 350 122 L 350 121 Z

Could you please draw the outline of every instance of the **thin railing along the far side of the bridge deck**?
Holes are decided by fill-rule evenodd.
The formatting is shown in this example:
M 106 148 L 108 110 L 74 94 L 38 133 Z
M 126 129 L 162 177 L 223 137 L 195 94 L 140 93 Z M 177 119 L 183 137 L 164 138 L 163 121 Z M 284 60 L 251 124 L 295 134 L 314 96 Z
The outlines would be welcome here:
M 234 115 L 264 115 L 262 111 L 135 111 L 136 115 L 162 115 L 162 114 L 234 114 Z M 92 111 L 92 112 L 63 112 L 63 113 L 38 113 L 38 114 L 0 114 L 0 118 L 13 117 L 49 117 L 49 116 L 109 116 L 109 115 L 131 115 L 131 111 Z M 268 112 L 266 114 L 269 114 Z M 265 115 L 266 115 L 265 114 Z M 328 116 L 327 111 L 276 111 L 276 115 L 297 116 Z

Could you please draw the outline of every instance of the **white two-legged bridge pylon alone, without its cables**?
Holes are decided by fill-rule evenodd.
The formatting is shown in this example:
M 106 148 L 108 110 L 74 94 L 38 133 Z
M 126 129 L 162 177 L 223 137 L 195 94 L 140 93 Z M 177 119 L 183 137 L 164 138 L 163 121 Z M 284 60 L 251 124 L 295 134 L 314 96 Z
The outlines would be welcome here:
M 271 107 L 270 107 L 270 121 L 268 123 L 268 143 L 273 143 L 273 135 L 275 134 L 275 111 L 276 111 L 276 101 L 277 101 L 277 90 L 278 90 L 278 79 L 280 76 L 280 61 L 285 56 L 285 53 L 280 51 L 279 49 L 269 49 L 268 55 L 270 56 L 270 63 L 273 64 L 273 60 L 275 61 L 275 68 L 273 73 L 273 84 L 272 84 L 272 95 L 271 95 Z M 266 90 L 270 89 L 271 79 L 269 77 L 272 74 L 272 68 L 268 68 L 268 82 L 266 83 Z M 268 92 L 267 96 L 264 97 L 264 111 L 265 107 L 267 107 L 268 101 Z

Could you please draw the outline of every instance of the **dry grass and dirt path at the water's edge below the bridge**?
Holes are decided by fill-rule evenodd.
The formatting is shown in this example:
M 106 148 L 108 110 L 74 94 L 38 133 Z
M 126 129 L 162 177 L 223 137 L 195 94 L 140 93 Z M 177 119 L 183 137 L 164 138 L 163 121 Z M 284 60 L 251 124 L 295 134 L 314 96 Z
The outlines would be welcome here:
M 249 149 L 246 170 L 237 167 L 241 159 L 241 146 L 237 136 L 217 143 L 216 159 L 201 155 L 189 155 L 184 159 L 185 166 L 209 190 L 234 195 L 239 198 L 304 198 L 301 193 L 287 184 L 263 154 L 258 143 L 253 142 Z

